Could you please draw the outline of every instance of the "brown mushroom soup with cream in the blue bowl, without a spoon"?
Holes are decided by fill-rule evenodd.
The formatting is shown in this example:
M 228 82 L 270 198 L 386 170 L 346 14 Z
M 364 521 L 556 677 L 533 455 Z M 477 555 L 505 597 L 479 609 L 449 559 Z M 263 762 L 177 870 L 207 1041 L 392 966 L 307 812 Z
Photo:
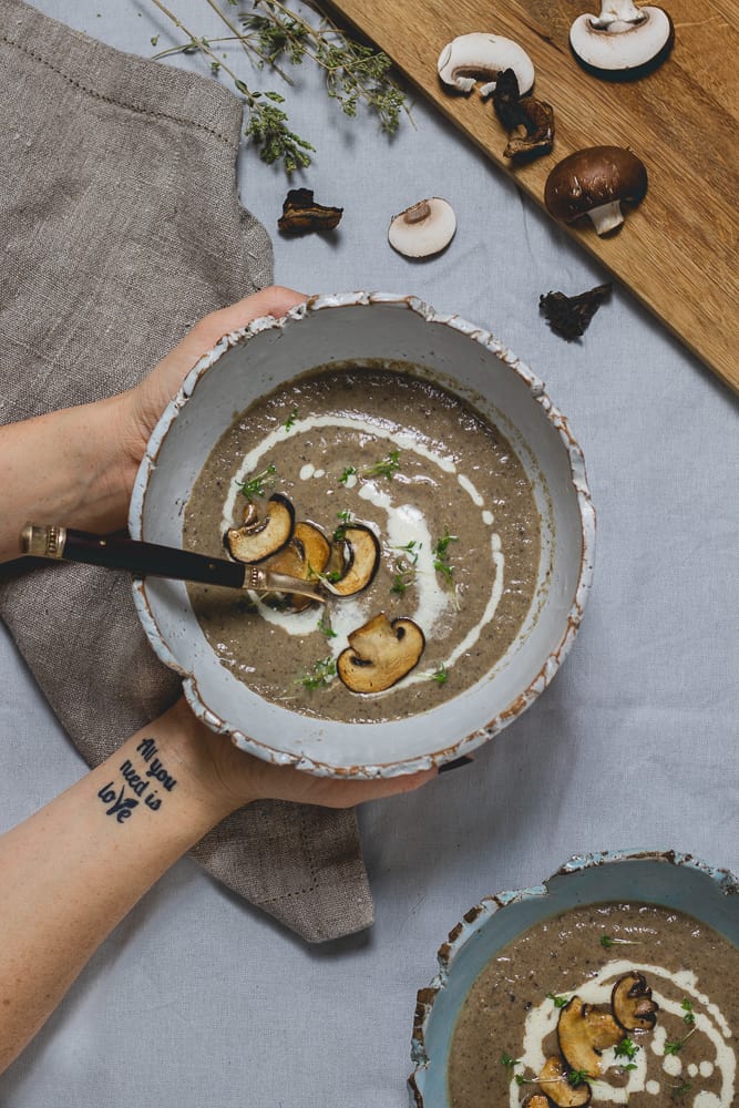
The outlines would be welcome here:
M 478 976 L 449 1056 L 452 1108 L 731 1108 L 739 950 L 688 915 L 601 904 L 545 920 Z

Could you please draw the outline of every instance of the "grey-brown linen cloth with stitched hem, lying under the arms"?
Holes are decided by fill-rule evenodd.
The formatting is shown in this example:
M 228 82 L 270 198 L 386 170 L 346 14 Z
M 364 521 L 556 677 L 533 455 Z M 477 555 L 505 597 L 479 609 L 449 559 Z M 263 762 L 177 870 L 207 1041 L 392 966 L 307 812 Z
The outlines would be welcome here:
M 20 0 L 0 0 L 0 73 L 8 423 L 135 384 L 188 325 L 269 284 L 271 246 L 238 202 L 242 106 L 216 82 Z M 148 646 L 127 575 L 18 565 L 0 578 L 0 616 L 94 766 L 168 707 L 178 681 Z M 249 806 L 193 854 L 310 942 L 371 923 L 353 812 Z

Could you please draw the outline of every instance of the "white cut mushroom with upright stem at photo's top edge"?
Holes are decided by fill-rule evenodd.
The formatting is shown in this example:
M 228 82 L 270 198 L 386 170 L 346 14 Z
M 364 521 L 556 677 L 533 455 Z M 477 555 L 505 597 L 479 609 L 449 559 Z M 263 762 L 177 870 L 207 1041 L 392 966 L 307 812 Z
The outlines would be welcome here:
M 578 16 L 569 29 L 577 61 L 598 76 L 634 78 L 661 64 L 673 45 L 673 23 L 661 8 L 603 0 L 601 16 Z

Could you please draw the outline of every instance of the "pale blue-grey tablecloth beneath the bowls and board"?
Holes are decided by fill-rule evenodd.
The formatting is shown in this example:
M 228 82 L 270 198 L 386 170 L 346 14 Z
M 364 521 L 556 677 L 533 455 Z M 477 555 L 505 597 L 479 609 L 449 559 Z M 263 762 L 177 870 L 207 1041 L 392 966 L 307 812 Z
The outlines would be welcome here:
M 170 42 L 143 4 L 43 7 L 142 54 L 152 35 Z M 216 33 L 201 0 L 177 10 Z M 0 1077 L 3 1108 L 404 1108 L 415 991 L 481 896 L 589 850 L 674 847 L 739 871 L 736 400 L 622 287 L 582 342 L 554 337 L 540 294 L 607 274 L 422 104 L 392 142 L 343 124 L 309 71 L 288 106 L 318 147 L 301 183 L 345 216 L 327 238 L 276 234 L 276 278 L 414 293 L 492 328 L 546 381 L 598 510 L 585 620 L 546 694 L 472 767 L 360 811 L 371 931 L 306 948 L 185 860 Z M 245 153 L 240 175 L 274 232 L 280 174 Z M 413 265 L 388 248 L 387 225 L 434 194 L 453 203 L 458 234 Z M 1 645 L 9 825 L 81 767 Z

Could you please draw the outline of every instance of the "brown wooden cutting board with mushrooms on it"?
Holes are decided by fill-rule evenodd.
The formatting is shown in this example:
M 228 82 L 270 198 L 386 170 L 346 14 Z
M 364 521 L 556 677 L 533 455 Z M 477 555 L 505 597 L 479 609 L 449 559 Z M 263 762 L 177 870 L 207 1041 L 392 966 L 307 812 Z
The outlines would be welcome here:
M 598 238 L 588 225 L 569 233 L 739 392 L 739 3 L 664 0 L 664 7 L 675 25 L 669 58 L 642 80 L 613 83 L 582 70 L 568 47 L 569 24 L 599 11 L 597 0 L 333 3 L 542 206 L 550 170 L 573 151 L 615 144 L 638 154 L 649 191 L 620 232 Z M 469 31 L 507 35 L 526 50 L 534 94 L 555 111 L 552 154 L 512 168 L 490 102 L 439 82 L 440 51 Z

